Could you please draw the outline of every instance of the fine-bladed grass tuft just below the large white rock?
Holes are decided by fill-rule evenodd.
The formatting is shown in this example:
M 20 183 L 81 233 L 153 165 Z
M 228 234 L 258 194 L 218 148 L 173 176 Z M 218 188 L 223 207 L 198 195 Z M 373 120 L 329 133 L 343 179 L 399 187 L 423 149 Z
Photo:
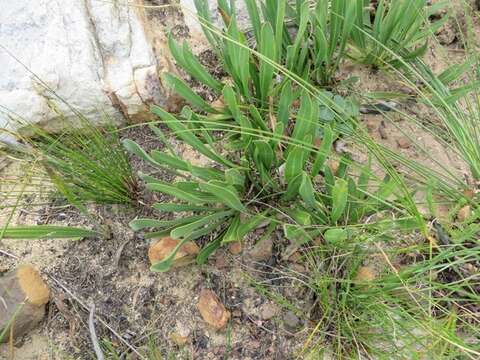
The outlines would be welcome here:
M 60 134 L 30 125 L 32 136 L 17 134 L 27 146 L 12 151 L 42 166 L 60 194 L 82 210 L 88 202 L 132 203 L 137 180 L 117 131 L 108 121 L 100 129 L 81 115 L 78 119 L 76 128 Z

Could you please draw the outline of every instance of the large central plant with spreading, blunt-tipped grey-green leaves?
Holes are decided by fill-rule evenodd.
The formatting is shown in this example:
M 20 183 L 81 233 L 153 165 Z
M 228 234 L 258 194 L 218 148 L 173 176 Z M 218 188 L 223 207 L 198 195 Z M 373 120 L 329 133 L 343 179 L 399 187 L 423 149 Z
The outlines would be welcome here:
M 283 225 L 285 236 L 298 246 L 323 234 L 325 228 L 338 225 L 337 231 L 329 229 L 324 236 L 327 241 L 344 241 L 348 233 L 341 229 L 342 225 L 392 206 L 388 198 L 397 190 L 394 182 L 386 180 L 371 193 L 367 188 L 372 176 L 369 167 L 355 182 L 348 174 L 351 161 L 347 158 L 341 159 L 336 176 L 326 166 L 336 135 L 331 124 L 315 121 L 320 108 L 308 95 L 301 96 L 301 104 L 292 114 L 295 121 L 286 116 L 286 124 L 272 126 L 271 117 L 265 119 L 254 106 L 242 111 L 229 86 L 225 86 L 223 94 L 228 117 L 234 119 L 231 124 L 225 120 L 227 116 L 213 120 L 189 108 L 183 109 L 181 119 L 159 107 L 152 109 L 177 138 L 207 157 L 210 166 L 192 165 L 171 146 L 167 146 L 169 153 L 153 150 L 148 154 L 135 142 L 124 141 L 130 152 L 183 178 L 168 184 L 141 174 L 149 190 L 175 200 L 153 207 L 163 212 L 193 212 L 174 220 L 136 219 L 130 223 L 134 230 L 155 228 L 157 231 L 150 237 L 170 235 L 181 240 L 172 254 L 154 264 L 152 270 L 167 271 L 176 251 L 187 241 L 216 235 L 197 258 L 203 263 L 220 245 L 240 241 L 260 225 L 268 226 L 268 234 Z M 287 109 L 293 109 L 293 101 Z M 222 135 L 218 135 L 219 131 Z M 312 134 L 323 138 L 320 148 L 314 146 Z M 219 147 L 226 153 L 216 150 Z M 323 177 L 317 178 L 320 173 Z

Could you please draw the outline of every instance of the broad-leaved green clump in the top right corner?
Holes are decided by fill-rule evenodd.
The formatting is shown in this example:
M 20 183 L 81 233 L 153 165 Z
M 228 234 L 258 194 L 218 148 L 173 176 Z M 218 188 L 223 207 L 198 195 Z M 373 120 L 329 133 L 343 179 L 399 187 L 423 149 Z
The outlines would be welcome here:
M 368 0 L 356 3 L 352 57 L 378 67 L 398 66 L 398 58 L 410 61 L 422 55 L 427 50 L 428 38 L 447 20 L 443 17 L 429 22 L 430 15 L 444 7 L 444 2 L 427 7 L 426 0 L 379 0 L 374 9 Z M 373 21 L 371 10 L 375 12 Z

